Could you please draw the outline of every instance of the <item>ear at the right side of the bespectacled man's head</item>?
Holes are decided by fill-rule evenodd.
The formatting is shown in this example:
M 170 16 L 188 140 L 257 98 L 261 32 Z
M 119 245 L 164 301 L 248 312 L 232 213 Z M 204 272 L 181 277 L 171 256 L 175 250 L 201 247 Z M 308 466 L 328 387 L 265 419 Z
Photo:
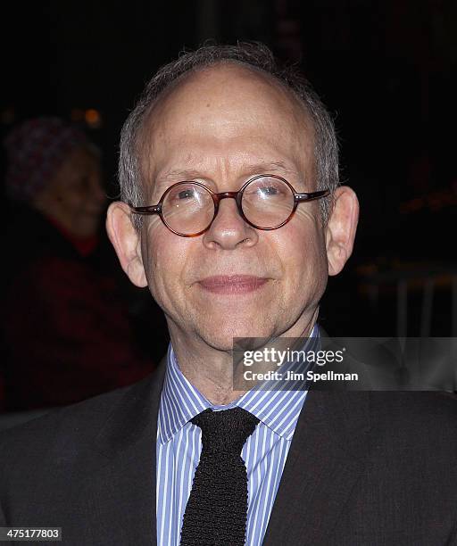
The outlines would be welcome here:
M 351 256 L 358 220 L 357 195 L 350 187 L 339 186 L 326 230 L 328 275 L 337 275 Z

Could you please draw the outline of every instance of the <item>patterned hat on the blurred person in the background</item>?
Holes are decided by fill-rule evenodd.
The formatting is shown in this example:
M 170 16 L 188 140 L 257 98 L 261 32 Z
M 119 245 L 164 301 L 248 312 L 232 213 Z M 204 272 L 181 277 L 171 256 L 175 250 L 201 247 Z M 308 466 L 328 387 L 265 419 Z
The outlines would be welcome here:
M 59 118 L 24 121 L 4 140 L 7 194 L 17 201 L 31 201 L 54 177 L 72 149 L 87 144 L 79 128 Z

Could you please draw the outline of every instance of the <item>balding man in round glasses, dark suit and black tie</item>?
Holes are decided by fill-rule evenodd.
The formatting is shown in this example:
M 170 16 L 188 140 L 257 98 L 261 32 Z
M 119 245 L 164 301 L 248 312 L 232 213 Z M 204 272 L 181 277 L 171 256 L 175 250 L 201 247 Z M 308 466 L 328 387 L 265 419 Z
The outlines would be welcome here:
M 108 233 L 170 351 L 151 379 L 4 435 L 4 525 L 69 544 L 457 543 L 451 398 L 234 390 L 233 338 L 313 343 L 352 252 L 357 199 L 311 89 L 261 45 L 183 55 L 123 128 L 120 184 Z

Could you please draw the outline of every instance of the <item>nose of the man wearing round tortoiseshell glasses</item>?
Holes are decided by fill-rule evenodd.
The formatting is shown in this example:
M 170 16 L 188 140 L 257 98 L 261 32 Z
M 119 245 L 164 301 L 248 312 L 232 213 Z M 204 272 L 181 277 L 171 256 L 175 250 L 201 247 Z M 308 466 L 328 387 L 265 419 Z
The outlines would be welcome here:
M 210 249 L 234 250 L 253 246 L 259 234 L 240 216 L 235 199 L 222 199 L 211 227 L 204 233 L 204 245 Z

